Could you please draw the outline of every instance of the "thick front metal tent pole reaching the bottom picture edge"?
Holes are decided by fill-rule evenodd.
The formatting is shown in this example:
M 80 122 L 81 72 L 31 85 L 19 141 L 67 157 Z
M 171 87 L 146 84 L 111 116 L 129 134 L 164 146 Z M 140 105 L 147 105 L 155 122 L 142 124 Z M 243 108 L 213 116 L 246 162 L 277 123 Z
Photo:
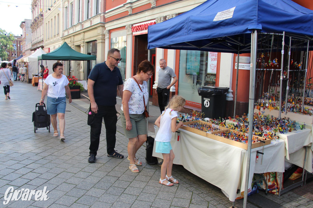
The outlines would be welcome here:
M 251 33 L 251 63 L 250 63 L 250 90 L 249 90 L 249 137 L 247 150 L 247 167 L 246 177 L 244 182 L 244 208 L 247 206 L 248 187 L 249 187 L 249 171 L 250 171 L 250 157 L 252 144 L 252 130 L 253 130 L 253 112 L 254 112 L 254 89 L 255 89 L 255 68 L 256 68 L 256 51 L 257 51 L 257 31 L 253 30 Z

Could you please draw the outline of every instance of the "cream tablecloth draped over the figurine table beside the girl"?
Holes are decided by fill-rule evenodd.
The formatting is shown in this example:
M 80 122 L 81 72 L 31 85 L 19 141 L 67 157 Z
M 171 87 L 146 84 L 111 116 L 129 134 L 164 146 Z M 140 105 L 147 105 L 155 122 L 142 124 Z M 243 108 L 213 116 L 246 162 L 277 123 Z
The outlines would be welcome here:
M 192 132 L 180 129 L 180 139 L 177 141 L 172 134 L 171 145 L 175 154 L 174 164 L 182 165 L 185 169 L 221 188 L 230 201 L 234 201 L 237 189 L 244 191 L 247 151 L 239 147 L 225 144 Z M 153 150 L 153 156 L 162 157 L 161 153 Z M 255 163 L 256 151 L 251 151 L 249 186 L 254 173 L 284 172 L 285 142 L 283 140 L 271 142 L 264 146 L 264 158 L 261 165 Z M 249 187 L 251 188 L 251 187 Z

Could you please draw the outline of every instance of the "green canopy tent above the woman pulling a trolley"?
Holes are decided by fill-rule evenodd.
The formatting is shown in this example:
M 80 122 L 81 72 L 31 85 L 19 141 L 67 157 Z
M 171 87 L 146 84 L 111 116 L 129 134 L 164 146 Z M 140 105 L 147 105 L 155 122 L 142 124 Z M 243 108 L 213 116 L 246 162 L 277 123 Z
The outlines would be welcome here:
M 66 42 L 64 42 L 59 48 L 55 49 L 54 51 L 38 56 L 38 62 L 40 60 L 88 61 L 96 60 L 96 58 L 96 56 L 77 52 L 73 48 L 71 48 Z

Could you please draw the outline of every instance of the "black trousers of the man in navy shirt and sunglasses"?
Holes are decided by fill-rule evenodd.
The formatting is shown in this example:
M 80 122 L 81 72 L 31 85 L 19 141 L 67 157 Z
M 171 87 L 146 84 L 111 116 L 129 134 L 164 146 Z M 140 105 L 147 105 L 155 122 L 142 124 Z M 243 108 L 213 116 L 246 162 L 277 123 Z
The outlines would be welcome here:
M 90 146 L 89 154 L 97 155 L 100 142 L 100 134 L 102 127 L 102 118 L 105 124 L 106 131 L 106 150 L 108 154 L 114 152 L 115 142 L 116 142 L 116 109 L 115 106 L 99 106 L 98 113 L 95 114 L 95 120 L 90 125 Z

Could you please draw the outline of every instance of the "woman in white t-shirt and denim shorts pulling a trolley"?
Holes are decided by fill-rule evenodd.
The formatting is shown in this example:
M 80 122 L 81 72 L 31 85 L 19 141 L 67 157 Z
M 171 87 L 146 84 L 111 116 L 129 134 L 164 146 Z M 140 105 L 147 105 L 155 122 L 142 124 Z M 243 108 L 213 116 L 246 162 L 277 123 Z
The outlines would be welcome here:
M 44 103 L 44 97 L 47 94 L 47 113 L 51 115 L 51 123 L 54 128 L 53 136 L 59 136 L 57 128 L 57 116 L 59 117 L 60 140 L 65 140 L 65 92 L 69 96 L 69 103 L 72 102 L 71 92 L 69 91 L 69 80 L 63 75 L 63 64 L 56 62 L 52 67 L 53 74 L 50 74 L 44 81 L 44 89 L 41 93 L 41 103 Z M 48 93 L 47 93 L 48 92 Z

